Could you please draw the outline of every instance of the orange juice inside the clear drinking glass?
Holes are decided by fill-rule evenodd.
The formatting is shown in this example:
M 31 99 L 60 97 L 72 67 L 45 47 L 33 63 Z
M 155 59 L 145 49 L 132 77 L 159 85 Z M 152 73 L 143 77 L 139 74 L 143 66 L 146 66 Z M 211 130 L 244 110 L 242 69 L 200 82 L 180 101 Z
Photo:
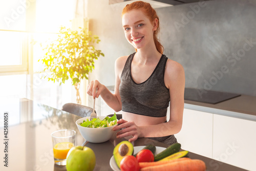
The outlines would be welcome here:
M 71 142 L 60 142 L 54 145 L 53 147 L 53 156 L 55 159 L 66 159 L 67 154 L 74 146 Z

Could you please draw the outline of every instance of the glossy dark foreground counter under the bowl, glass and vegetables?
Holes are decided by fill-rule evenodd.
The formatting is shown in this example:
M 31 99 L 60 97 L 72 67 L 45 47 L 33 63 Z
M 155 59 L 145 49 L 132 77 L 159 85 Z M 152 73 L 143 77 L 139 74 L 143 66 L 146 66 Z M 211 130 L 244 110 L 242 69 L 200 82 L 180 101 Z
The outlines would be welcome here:
M 75 124 L 75 121 L 80 118 L 79 116 L 28 99 L 4 101 L 1 109 L 5 111 L 2 111 L 3 114 L 8 113 L 5 114 L 8 116 L 8 134 L 5 135 L 8 151 L 4 151 L 4 146 L 2 146 L 1 155 L 8 157 L 0 165 L 0 170 L 66 170 L 66 166 L 54 164 L 51 133 L 56 130 L 72 129 L 76 131 L 76 145 L 82 145 L 85 142 Z M 0 125 L 0 132 L 4 134 L 3 124 Z M 123 140 L 127 139 L 117 139 L 114 134 L 109 141 L 87 144 L 93 149 L 96 156 L 94 171 L 112 170 L 110 161 L 113 156 L 113 149 L 117 143 Z M 133 142 L 134 146 L 147 144 L 168 147 L 167 144 L 148 138 L 139 138 Z M 189 152 L 189 158 L 203 160 L 207 171 L 245 170 L 193 152 Z

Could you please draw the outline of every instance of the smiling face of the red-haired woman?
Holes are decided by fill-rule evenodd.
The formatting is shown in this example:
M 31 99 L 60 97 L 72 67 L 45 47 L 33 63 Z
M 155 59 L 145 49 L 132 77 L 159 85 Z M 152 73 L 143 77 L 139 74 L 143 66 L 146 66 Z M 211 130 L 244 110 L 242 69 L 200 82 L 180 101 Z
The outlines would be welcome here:
M 125 38 L 135 49 L 154 45 L 153 33 L 157 29 L 157 19 L 152 23 L 142 10 L 131 10 L 123 14 L 122 25 Z

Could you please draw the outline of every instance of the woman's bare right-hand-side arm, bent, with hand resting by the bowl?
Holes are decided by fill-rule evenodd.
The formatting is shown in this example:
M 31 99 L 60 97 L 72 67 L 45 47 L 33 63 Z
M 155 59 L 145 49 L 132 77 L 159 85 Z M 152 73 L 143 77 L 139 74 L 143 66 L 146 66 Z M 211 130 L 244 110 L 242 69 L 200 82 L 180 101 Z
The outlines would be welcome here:
M 168 122 L 156 125 L 137 126 L 134 122 L 120 120 L 116 129 L 125 129 L 118 132 L 117 137 L 133 136 L 129 141 L 139 137 L 163 137 L 177 134 L 182 127 L 184 109 L 185 74 L 183 67 L 173 60 L 168 60 L 164 82 L 170 93 L 170 119 Z

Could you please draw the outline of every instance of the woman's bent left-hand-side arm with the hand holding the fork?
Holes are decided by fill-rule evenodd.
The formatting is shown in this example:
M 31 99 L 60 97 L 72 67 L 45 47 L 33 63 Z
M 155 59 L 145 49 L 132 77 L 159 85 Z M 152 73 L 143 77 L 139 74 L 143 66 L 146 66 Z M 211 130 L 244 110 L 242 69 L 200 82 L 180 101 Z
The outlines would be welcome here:
M 125 64 L 127 57 L 122 56 L 115 61 L 115 93 L 111 93 L 108 88 L 101 84 L 98 80 L 93 80 L 90 82 L 87 88 L 87 93 L 93 98 L 101 98 L 112 108 L 114 111 L 118 112 L 122 109 L 121 97 L 119 94 L 119 84 L 120 76 Z M 96 92 L 97 89 L 97 92 Z

